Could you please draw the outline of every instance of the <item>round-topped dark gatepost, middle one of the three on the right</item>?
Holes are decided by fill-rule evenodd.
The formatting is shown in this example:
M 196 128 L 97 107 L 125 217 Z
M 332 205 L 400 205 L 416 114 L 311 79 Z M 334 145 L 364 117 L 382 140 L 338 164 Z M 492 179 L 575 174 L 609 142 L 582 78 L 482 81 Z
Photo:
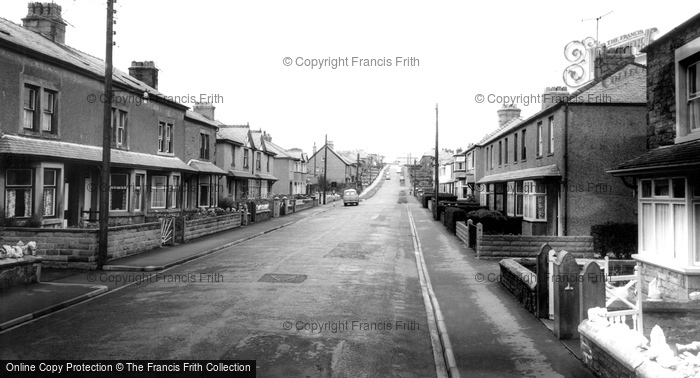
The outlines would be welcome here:
M 554 262 L 554 334 L 559 340 L 578 339 L 579 267 L 572 254 L 559 252 Z

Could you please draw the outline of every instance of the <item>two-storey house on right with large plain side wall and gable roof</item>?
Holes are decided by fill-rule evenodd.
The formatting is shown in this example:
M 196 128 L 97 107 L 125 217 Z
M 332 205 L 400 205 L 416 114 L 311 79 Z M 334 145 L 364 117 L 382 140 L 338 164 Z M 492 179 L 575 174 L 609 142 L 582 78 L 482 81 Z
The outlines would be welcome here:
M 643 151 L 646 68 L 633 56 L 572 94 L 547 88 L 522 119 L 499 110 L 500 127 L 475 147 L 482 206 L 522 220 L 523 235 L 589 235 L 594 224 L 635 222 L 630 188 L 605 173 Z M 503 114 L 505 113 L 505 114 Z

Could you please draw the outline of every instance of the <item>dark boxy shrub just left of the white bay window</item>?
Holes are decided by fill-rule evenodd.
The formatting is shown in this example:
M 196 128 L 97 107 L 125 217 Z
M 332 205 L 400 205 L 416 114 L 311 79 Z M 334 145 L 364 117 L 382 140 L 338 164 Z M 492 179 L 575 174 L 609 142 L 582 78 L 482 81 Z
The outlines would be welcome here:
M 637 225 L 635 223 L 607 222 L 591 226 L 593 250 L 600 257 L 629 260 L 637 253 Z

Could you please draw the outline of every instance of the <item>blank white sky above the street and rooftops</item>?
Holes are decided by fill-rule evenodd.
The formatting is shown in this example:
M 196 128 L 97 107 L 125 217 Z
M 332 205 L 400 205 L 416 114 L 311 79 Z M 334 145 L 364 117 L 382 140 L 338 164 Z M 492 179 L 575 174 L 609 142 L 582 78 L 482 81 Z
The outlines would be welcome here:
M 54 2 L 66 44 L 104 58 L 106 0 Z M 27 3 L 3 0 L 0 17 L 21 24 Z M 164 95 L 208 97 L 218 120 L 284 148 L 310 153 L 327 135 L 337 150 L 405 161 L 435 146 L 436 106 L 439 146 L 456 150 L 498 127 L 503 104 L 489 97 L 565 85 L 564 47 L 596 38 L 596 23 L 601 42 L 651 27 L 658 38 L 700 12 L 660 4 L 117 0 L 114 65 L 154 61 Z M 541 104 L 518 107 L 527 118 Z

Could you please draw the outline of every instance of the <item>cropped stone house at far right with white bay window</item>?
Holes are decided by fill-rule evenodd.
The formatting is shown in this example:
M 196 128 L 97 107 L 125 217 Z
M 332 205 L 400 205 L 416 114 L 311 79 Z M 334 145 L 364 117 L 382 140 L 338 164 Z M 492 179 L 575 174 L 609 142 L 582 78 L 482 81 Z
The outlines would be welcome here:
M 700 291 L 700 14 L 647 45 L 646 152 L 608 173 L 636 189 L 635 258 L 662 296 Z

